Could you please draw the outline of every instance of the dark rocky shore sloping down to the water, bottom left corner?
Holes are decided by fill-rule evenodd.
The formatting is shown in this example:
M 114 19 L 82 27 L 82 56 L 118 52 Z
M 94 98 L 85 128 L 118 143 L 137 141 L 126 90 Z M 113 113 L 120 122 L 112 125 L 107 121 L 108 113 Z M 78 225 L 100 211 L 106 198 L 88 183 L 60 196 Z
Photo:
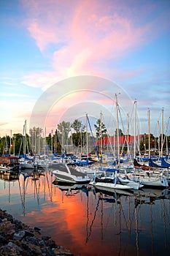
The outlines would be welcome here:
M 29 227 L 0 209 L 0 255 L 74 256 L 68 249 L 42 236 L 38 227 Z

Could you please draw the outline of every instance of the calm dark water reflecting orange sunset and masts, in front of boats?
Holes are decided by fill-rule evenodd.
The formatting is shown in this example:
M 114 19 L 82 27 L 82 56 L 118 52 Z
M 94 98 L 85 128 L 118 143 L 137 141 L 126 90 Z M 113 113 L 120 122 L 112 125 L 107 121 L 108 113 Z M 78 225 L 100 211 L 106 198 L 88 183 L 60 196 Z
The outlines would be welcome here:
M 170 192 L 106 195 L 86 186 L 58 188 L 50 170 L 0 177 L 0 208 L 74 255 L 169 255 Z M 149 196 L 150 193 L 150 196 Z

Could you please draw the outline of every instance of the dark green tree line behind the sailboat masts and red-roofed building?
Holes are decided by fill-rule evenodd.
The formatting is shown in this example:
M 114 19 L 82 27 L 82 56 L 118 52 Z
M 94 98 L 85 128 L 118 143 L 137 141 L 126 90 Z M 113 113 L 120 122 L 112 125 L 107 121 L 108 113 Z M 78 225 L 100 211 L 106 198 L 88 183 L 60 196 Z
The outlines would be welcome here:
M 73 123 L 62 121 L 58 124 L 57 129 L 52 130 L 48 135 L 40 127 L 29 129 L 29 135 L 15 133 L 0 138 L 0 154 L 40 154 L 44 153 L 66 153 L 68 151 L 76 151 L 79 148 L 84 148 L 87 153 L 93 151 L 96 147 L 96 140 L 108 137 L 107 128 L 99 118 L 94 124 L 95 137 L 90 132 L 86 131 L 86 127 L 82 121 L 75 119 Z M 123 136 L 121 129 L 115 129 L 115 136 Z M 130 135 L 129 135 L 130 136 Z M 150 148 L 161 148 L 161 135 L 154 137 L 150 135 Z M 169 148 L 170 136 L 163 135 L 163 149 Z M 149 135 L 144 134 L 139 142 L 140 151 L 146 152 L 149 148 Z M 88 146 L 88 148 L 87 148 Z M 104 147 L 104 146 L 102 146 Z M 73 150 L 74 148 L 74 150 Z M 103 151 L 104 148 L 102 148 Z M 105 148 L 106 149 L 106 148 Z M 126 148 L 127 149 L 127 148 Z M 125 150 L 126 150 L 125 149 Z M 98 151 L 100 150 L 98 146 Z

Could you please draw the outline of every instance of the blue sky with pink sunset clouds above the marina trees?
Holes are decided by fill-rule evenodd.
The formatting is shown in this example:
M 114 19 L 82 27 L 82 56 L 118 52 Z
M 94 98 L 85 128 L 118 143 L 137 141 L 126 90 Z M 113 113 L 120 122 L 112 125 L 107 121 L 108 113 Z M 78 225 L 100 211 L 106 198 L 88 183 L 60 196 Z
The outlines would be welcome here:
M 169 0 L 0 0 L 0 136 L 86 115 L 112 133 L 116 97 L 121 127 L 169 134 L 169 17 Z

